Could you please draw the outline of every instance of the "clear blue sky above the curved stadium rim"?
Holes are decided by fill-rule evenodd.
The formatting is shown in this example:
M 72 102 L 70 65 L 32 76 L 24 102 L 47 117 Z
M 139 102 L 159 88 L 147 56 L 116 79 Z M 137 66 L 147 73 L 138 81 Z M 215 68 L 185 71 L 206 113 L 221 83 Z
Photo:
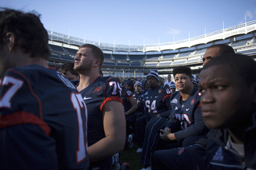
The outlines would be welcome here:
M 157 44 L 256 20 L 256 0 L 0 0 L 1 7 L 35 10 L 46 30 L 95 42 Z

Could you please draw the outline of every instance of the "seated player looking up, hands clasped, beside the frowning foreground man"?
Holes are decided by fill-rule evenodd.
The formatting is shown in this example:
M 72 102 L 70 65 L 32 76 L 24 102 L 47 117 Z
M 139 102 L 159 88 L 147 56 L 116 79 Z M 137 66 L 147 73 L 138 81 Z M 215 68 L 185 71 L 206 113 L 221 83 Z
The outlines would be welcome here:
M 168 148 L 175 148 L 182 144 L 190 145 L 208 132 L 202 120 L 200 95 L 198 89 L 194 88 L 191 69 L 186 66 L 175 67 L 173 74 L 178 91 L 170 97 L 169 118 L 158 117 L 146 125 L 141 157 L 145 169 L 150 167 L 151 156 L 157 147 L 165 147 L 158 146 L 163 143 L 161 140 L 171 143 Z

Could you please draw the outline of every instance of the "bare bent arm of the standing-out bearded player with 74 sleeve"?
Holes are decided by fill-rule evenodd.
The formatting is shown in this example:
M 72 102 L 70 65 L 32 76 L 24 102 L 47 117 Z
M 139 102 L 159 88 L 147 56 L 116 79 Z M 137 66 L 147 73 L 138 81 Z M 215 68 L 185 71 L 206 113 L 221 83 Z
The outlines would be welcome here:
M 126 141 L 126 119 L 122 103 L 108 101 L 102 110 L 106 137 L 88 148 L 90 162 L 105 159 L 122 151 Z

